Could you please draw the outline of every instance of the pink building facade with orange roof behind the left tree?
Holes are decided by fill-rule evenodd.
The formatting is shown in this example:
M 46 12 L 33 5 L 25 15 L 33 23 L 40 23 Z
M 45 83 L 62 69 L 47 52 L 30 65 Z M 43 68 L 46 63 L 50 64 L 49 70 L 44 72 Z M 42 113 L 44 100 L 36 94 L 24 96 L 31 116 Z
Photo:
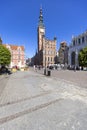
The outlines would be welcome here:
M 9 45 L 4 44 L 6 48 L 8 48 L 11 52 L 11 63 L 10 67 L 17 66 L 19 68 L 25 66 L 25 53 L 24 53 L 24 46 L 16 46 L 16 45 Z

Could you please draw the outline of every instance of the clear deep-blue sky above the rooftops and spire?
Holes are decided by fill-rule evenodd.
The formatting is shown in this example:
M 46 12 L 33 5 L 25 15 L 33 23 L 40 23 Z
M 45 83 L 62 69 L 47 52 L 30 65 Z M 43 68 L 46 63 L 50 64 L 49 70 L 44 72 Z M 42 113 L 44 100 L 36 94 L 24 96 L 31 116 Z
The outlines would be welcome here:
M 23 45 L 26 58 L 37 50 L 41 6 L 46 38 L 57 37 L 57 50 L 87 30 L 87 0 L 0 0 L 0 37 L 4 44 Z

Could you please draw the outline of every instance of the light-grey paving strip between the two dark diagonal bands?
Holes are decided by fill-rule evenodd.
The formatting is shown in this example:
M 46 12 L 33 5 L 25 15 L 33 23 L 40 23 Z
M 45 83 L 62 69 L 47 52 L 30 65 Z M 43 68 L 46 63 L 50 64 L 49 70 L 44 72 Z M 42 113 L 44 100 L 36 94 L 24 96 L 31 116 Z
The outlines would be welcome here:
M 58 99 L 61 99 L 61 95 L 58 95 L 56 92 L 53 94 L 51 92 L 48 92 L 38 95 L 37 97 L 31 97 L 24 101 L 4 104 L 0 107 L 0 121 L 4 117 L 14 115 L 19 112 L 22 113 L 23 111 L 26 111 L 28 109 L 31 110 L 34 108 L 39 108 L 40 106 L 44 107 L 46 104 L 51 104 Z

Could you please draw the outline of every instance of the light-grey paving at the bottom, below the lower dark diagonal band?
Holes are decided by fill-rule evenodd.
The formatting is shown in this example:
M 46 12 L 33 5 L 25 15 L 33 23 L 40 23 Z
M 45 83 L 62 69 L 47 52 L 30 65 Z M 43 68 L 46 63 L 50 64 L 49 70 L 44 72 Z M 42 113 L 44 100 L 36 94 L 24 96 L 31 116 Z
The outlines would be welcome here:
M 60 100 L 0 125 L 0 130 L 86 130 L 87 106 L 69 99 Z

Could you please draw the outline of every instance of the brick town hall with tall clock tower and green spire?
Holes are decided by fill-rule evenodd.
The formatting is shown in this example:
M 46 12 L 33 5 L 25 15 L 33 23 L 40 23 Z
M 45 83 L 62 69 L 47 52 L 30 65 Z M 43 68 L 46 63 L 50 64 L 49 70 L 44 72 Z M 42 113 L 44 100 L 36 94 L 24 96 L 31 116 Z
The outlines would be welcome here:
M 38 65 L 43 67 L 55 63 L 56 56 L 56 38 L 49 40 L 45 37 L 45 26 L 43 23 L 42 8 L 40 8 L 39 25 L 37 29 L 38 39 L 38 52 L 37 61 Z

